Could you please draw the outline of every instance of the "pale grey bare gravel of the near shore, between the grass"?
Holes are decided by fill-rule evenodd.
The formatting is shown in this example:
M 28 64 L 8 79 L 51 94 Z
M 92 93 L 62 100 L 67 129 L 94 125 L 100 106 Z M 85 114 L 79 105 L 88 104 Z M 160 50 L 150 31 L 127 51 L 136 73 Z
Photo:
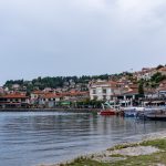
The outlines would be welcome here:
M 83 157 L 91 158 L 93 160 L 97 160 L 97 162 L 102 162 L 102 163 L 110 163 L 110 162 L 126 159 L 125 156 L 151 155 L 153 153 L 159 152 L 159 149 L 156 147 L 153 147 L 153 146 L 141 146 L 139 144 L 145 141 L 153 141 L 153 139 L 158 139 L 158 138 L 166 138 L 166 132 L 147 134 L 147 135 L 142 136 L 142 139 L 139 142 L 129 142 L 129 143 L 126 142 L 126 143 L 121 144 L 122 146 L 136 144 L 137 146 L 134 146 L 134 147 L 128 146 L 126 148 L 121 148 L 121 149 L 110 148 L 110 149 L 98 152 L 95 154 L 85 155 Z M 116 157 L 114 157 L 114 156 L 116 156 Z M 40 165 L 40 166 L 61 166 L 63 164 L 71 163 L 73 160 L 74 159 L 66 160 L 61 164 Z

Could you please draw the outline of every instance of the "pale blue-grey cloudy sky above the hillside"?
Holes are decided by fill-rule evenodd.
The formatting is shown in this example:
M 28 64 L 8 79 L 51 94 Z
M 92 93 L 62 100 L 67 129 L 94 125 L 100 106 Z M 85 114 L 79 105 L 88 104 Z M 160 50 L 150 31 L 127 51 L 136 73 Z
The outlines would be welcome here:
M 166 63 L 165 0 L 1 0 L 0 83 Z

